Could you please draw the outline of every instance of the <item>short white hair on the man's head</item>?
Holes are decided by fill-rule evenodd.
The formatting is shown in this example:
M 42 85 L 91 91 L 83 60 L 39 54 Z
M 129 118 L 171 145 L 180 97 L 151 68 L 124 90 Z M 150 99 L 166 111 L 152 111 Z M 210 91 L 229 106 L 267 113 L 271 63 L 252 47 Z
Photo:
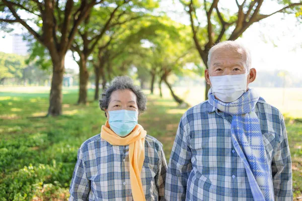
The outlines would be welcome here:
M 240 51 L 240 53 L 245 55 L 245 58 L 243 58 L 243 60 L 245 59 L 247 70 L 251 69 L 251 66 L 252 66 L 251 52 L 243 44 L 241 44 L 237 41 L 223 41 L 223 42 L 217 43 L 216 45 L 211 47 L 211 49 L 209 50 L 209 54 L 208 54 L 208 62 L 207 62 L 208 68 L 211 65 L 212 53 L 215 50 L 220 49 L 220 48 L 224 49 L 225 51 L 236 51 L 236 52 Z

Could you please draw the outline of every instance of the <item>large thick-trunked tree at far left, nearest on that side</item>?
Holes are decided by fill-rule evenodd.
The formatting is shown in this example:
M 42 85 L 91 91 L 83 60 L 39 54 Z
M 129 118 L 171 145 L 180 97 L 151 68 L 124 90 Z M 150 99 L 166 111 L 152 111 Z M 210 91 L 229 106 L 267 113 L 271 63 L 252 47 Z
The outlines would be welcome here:
M 8 23 L 19 23 L 49 51 L 53 72 L 48 116 L 62 114 L 64 59 L 78 31 L 78 26 L 88 16 L 95 5 L 103 2 L 103 0 L 77 2 L 73 2 L 72 0 L 3 0 L 0 4 L 0 11 L 5 14 L 5 17 L 0 19 L 2 29 L 7 30 Z M 24 19 L 20 16 L 20 13 L 26 13 L 32 19 Z

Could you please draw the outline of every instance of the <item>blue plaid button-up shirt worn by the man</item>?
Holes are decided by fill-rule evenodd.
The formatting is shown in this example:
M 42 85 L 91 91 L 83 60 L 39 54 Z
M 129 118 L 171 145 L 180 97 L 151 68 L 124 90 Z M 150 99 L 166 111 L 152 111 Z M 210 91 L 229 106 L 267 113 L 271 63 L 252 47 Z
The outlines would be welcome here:
M 282 114 L 260 98 L 260 120 L 275 200 L 292 200 L 291 158 Z M 231 140 L 232 116 L 207 101 L 182 117 L 168 165 L 167 200 L 254 200 Z

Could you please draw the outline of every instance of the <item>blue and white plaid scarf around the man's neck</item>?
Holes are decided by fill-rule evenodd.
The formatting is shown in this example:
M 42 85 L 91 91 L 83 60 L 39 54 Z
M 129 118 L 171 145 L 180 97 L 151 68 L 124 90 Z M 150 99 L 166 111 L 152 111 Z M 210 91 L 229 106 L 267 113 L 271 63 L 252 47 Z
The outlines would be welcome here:
M 274 189 L 270 179 L 270 168 L 266 159 L 260 122 L 255 113 L 259 99 L 254 89 L 249 89 L 232 103 L 217 100 L 211 89 L 208 102 L 221 112 L 233 116 L 231 138 L 234 148 L 243 160 L 255 200 L 274 200 Z

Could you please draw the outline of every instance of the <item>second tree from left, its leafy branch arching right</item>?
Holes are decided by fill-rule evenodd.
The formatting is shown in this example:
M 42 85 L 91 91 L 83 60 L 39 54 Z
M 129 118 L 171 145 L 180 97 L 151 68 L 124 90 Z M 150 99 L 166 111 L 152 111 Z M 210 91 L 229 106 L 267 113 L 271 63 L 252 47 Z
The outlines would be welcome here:
M 71 50 L 79 54 L 80 60 L 77 61 L 80 67 L 80 92 L 78 104 L 87 102 L 87 83 L 88 69 L 87 62 L 94 49 L 103 39 L 106 31 L 126 24 L 130 21 L 139 19 L 144 16 L 147 9 L 153 9 L 158 4 L 153 1 L 141 1 L 132 3 L 128 1 L 110 3 L 107 2 L 104 7 L 95 8 L 92 13 L 86 17 L 82 27 L 79 29 L 79 37 L 76 37 L 71 46 Z M 132 12 L 135 8 L 137 11 Z M 140 12 L 145 9 L 144 12 Z

